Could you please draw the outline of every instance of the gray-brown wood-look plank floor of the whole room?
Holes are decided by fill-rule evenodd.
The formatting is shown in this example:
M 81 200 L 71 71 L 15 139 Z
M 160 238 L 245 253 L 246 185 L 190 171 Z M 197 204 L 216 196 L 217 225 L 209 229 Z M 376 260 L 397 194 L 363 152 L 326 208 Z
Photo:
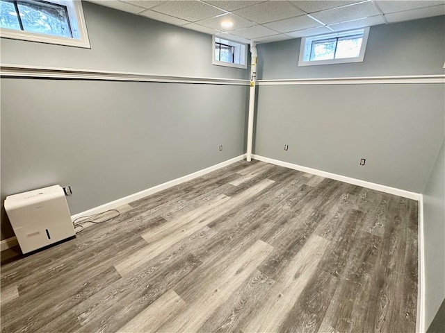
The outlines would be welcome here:
M 236 162 L 2 253 L 1 332 L 415 332 L 417 209 Z

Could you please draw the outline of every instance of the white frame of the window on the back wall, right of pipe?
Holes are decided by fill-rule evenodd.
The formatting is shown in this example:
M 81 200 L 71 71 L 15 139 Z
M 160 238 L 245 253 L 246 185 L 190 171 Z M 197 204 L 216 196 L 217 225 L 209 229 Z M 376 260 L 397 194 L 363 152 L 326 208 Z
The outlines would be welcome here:
M 362 39 L 362 46 L 360 48 L 360 54 L 358 57 L 355 58 L 341 58 L 341 59 L 329 59 L 329 60 L 305 60 L 305 56 L 307 56 L 307 47 L 309 46 L 309 52 L 310 52 L 310 45 L 314 40 L 324 40 L 330 37 L 346 37 L 348 35 L 353 35 L 357 31 L 363 30 L 363 39 Z M 367 28 L 359 28 L 349 31 L 341 31 L 338 33 L 327 33 L 323 35 L 316 35 L 312 37 L 302 37 L 301 44 L 300 44 L 300 58 L 298 58 L 298 66 L 314 66 L 314 65 L 332 65 L 332 64 L 344 64 L 347 62 L 363 62 L 364 60 L 364 53 L 366 51 L 366 44 L 368 44 L 368 36 L 369 36 L 369 27 Z

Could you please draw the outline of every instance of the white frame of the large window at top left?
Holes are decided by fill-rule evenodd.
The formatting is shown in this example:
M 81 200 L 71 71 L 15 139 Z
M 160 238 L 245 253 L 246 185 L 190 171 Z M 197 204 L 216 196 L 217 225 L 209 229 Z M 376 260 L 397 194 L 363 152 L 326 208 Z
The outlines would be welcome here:
M 58 0 L 45 0 L 45 1 L 51 3 L 59 3 L 59 4 L 63 2 Z M 22 31 L 22 30 L 8 29 L 8 28 L 0 28 L 0 37 L 10 38 L 13 40 L 27 40 L 30 42 L 76 46 L 76 47 L 91 49 L 90 40 L 88 38 L 88 31 L 86 30 L 85 17 L 83 16 L 82 1 L 72 0 L 72 3 L 74 6 L 76 24 L 80 38 L 46 35 L 42 33 L 30 33 L 29 31 Z M 72 16 L 74 16 L 74 12 L 70 11 L 70 9 L 68 9 L 68 16 L 70 20 L 72 20 Z

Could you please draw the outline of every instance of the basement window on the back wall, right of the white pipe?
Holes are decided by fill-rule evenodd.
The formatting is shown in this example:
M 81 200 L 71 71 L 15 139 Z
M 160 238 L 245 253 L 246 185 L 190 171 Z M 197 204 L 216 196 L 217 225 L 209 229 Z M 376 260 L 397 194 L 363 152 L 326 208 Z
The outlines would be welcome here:
M 301 39 L 298 66 L 362 62 L 369 28 Z

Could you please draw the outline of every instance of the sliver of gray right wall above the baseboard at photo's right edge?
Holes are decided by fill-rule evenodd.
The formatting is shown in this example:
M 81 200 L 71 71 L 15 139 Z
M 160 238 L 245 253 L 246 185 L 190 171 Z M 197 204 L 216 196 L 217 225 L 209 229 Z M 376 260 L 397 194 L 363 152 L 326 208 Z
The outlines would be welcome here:
M 445 298 L 445 140 L 423 191 L 426 327 Z

